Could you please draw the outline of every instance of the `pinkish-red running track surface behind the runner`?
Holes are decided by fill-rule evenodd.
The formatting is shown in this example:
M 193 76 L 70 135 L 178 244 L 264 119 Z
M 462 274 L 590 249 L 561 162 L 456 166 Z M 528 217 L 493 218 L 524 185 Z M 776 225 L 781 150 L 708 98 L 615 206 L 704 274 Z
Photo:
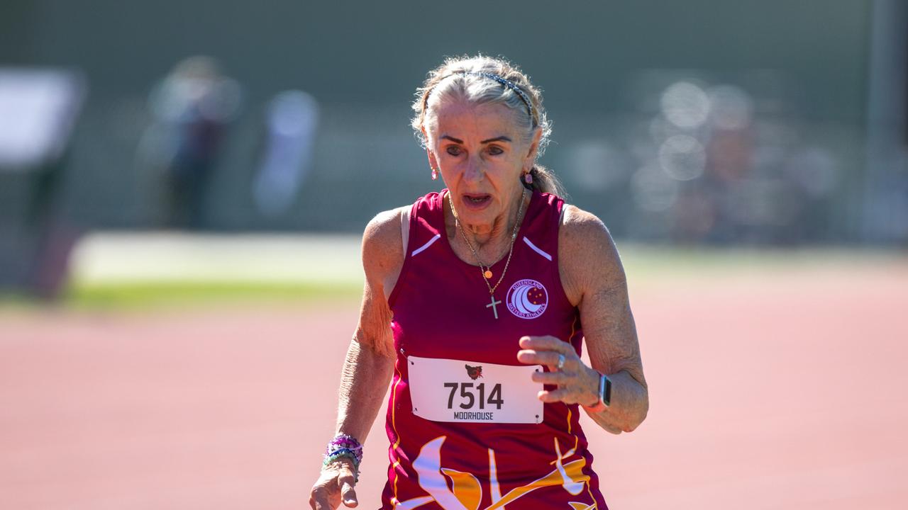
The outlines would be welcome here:
M 621 436 L 587 420 L 611 508 L 904 508 L 908 265 L 631 299 L 649 417 Z M 357 309 L 0 310 L 0 508 L 308 508 Z M 379 422 L 360 508 L 386 448 Z

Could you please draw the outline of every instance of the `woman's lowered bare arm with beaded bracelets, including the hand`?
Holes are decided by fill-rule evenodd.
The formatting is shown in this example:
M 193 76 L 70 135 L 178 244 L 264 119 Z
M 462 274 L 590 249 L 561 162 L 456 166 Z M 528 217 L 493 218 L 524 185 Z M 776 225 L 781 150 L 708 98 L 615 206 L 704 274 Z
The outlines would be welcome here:
M 360 324 L 344 359 L 335 434 L 356 437 L 360 443 L 378 416 L 381 401 L 394 370 L 394 338 L 387 296 L 403 266 L 400 209 L 373 218 L 362 236 L 362 266 L 366 282 L 360 307 Z M 312 508 L 357 505 L 355 475 L 350 459 L 341 458 L 321 470 L 312 486 Z

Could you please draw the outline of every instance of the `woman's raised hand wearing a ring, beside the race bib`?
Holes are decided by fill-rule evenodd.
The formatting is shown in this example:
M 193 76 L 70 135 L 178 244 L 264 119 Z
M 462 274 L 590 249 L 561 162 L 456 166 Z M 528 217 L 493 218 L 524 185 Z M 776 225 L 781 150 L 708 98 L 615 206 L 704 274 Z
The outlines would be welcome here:
M 558 389 L 539 392 L 543 402 L 564 402 L 592 407 L 599 401 L 599 373 L 577 356 L 574 347 L 559 338 L 522 337 L 517 359 L 528 365 L 546 365 L 550 372 L 535 372 L 533 380 L 543 384 L 557 385 Z M 558 358 L 564 356 L 564 364 L 558 368 Z

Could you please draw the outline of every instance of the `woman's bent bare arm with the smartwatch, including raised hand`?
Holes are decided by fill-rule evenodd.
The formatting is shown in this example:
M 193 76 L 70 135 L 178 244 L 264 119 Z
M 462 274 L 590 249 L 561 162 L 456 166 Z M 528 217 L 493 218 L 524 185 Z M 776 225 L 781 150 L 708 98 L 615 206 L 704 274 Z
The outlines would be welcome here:
M 609 432 L 631 432 L 646 418 L 648 389 L 637 343 L 637 329 L 627 298 L 627 279 L 615 242 L 595 215 L 565 206 L 558 233 L 559 271 L 571 303 L 580 311 L 592 368 L 568 342 L 554 337 L 520 339 L 518 359 L 548 365 L 534 380 L 556 384 L 540 392 L 544 402 L 562 401 L 592 407 L 598 402 L 599 373 L 612 381 L 611 401 L 601 412 L 587 414 Z M 558 355 L 565 356 L 556 369 Z

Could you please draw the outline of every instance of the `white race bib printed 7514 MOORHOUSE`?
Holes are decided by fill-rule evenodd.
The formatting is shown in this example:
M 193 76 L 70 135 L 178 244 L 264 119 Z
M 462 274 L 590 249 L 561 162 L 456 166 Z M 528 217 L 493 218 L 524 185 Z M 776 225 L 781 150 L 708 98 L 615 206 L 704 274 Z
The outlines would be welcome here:
M 540 423 L 539 365 L 495 365 L 462 359 L 407 358 L 413 414 L 432 421 Z

